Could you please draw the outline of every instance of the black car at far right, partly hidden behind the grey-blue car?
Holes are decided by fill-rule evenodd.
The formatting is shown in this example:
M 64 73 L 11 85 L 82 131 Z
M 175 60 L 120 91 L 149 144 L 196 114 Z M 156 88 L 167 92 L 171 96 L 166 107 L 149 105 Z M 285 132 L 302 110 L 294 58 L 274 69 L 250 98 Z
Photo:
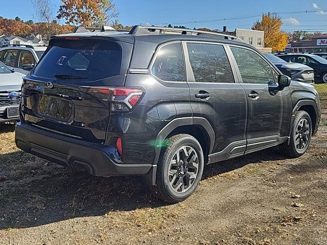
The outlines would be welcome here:
M 313 54 L 286 54 L 277 56 L 287 62 L 310 66 L 314 70 L 315 81 L 327 83 L 327 60 L 324 58 Z

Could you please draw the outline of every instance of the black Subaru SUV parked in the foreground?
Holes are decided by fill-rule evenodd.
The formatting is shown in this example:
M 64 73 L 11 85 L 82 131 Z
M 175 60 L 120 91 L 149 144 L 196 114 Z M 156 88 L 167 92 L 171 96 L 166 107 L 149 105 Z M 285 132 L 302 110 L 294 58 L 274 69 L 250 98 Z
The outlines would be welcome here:
M 18 148 L 94 176 L 143 175 L 175 203 L 205 164 L 278 144 L 301 156 L 320 104 L 236 37 L 135 26 L 53 36 L 20 117 Z

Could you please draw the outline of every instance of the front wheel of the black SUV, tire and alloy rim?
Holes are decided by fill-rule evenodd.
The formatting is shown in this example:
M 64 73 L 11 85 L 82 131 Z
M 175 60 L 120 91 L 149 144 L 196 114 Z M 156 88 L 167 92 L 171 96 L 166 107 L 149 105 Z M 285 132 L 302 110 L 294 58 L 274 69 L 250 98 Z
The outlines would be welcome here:
M 295 113 L 290 140 L 282 144 L 283 153 L 291 158 L 302 156 L 308 149 L 312 136 L 312 122 L 305 111 Z

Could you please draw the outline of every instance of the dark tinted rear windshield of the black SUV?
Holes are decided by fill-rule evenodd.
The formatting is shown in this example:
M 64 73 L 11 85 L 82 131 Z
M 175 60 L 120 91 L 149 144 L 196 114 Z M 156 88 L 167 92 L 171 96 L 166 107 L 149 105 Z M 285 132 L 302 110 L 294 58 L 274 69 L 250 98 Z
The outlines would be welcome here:
M 119 44 L 99 39 L 56 40 L 34 70 L 51 79 L 96 81 L 120 74 Z

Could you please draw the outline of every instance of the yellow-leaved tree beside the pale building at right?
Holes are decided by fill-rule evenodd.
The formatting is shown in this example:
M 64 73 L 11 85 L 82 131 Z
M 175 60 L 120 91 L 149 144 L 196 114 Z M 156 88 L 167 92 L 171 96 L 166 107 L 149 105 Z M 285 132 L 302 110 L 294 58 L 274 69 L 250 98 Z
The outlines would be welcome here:
M 285 50 L 288 44 L 288 34 L 281 31 L 283 20 L 277 14 L 263 14 L 261 21 L 253 24 L 252 30 L 265 32 L 265 47 L 271 47 L 272 52 Z

